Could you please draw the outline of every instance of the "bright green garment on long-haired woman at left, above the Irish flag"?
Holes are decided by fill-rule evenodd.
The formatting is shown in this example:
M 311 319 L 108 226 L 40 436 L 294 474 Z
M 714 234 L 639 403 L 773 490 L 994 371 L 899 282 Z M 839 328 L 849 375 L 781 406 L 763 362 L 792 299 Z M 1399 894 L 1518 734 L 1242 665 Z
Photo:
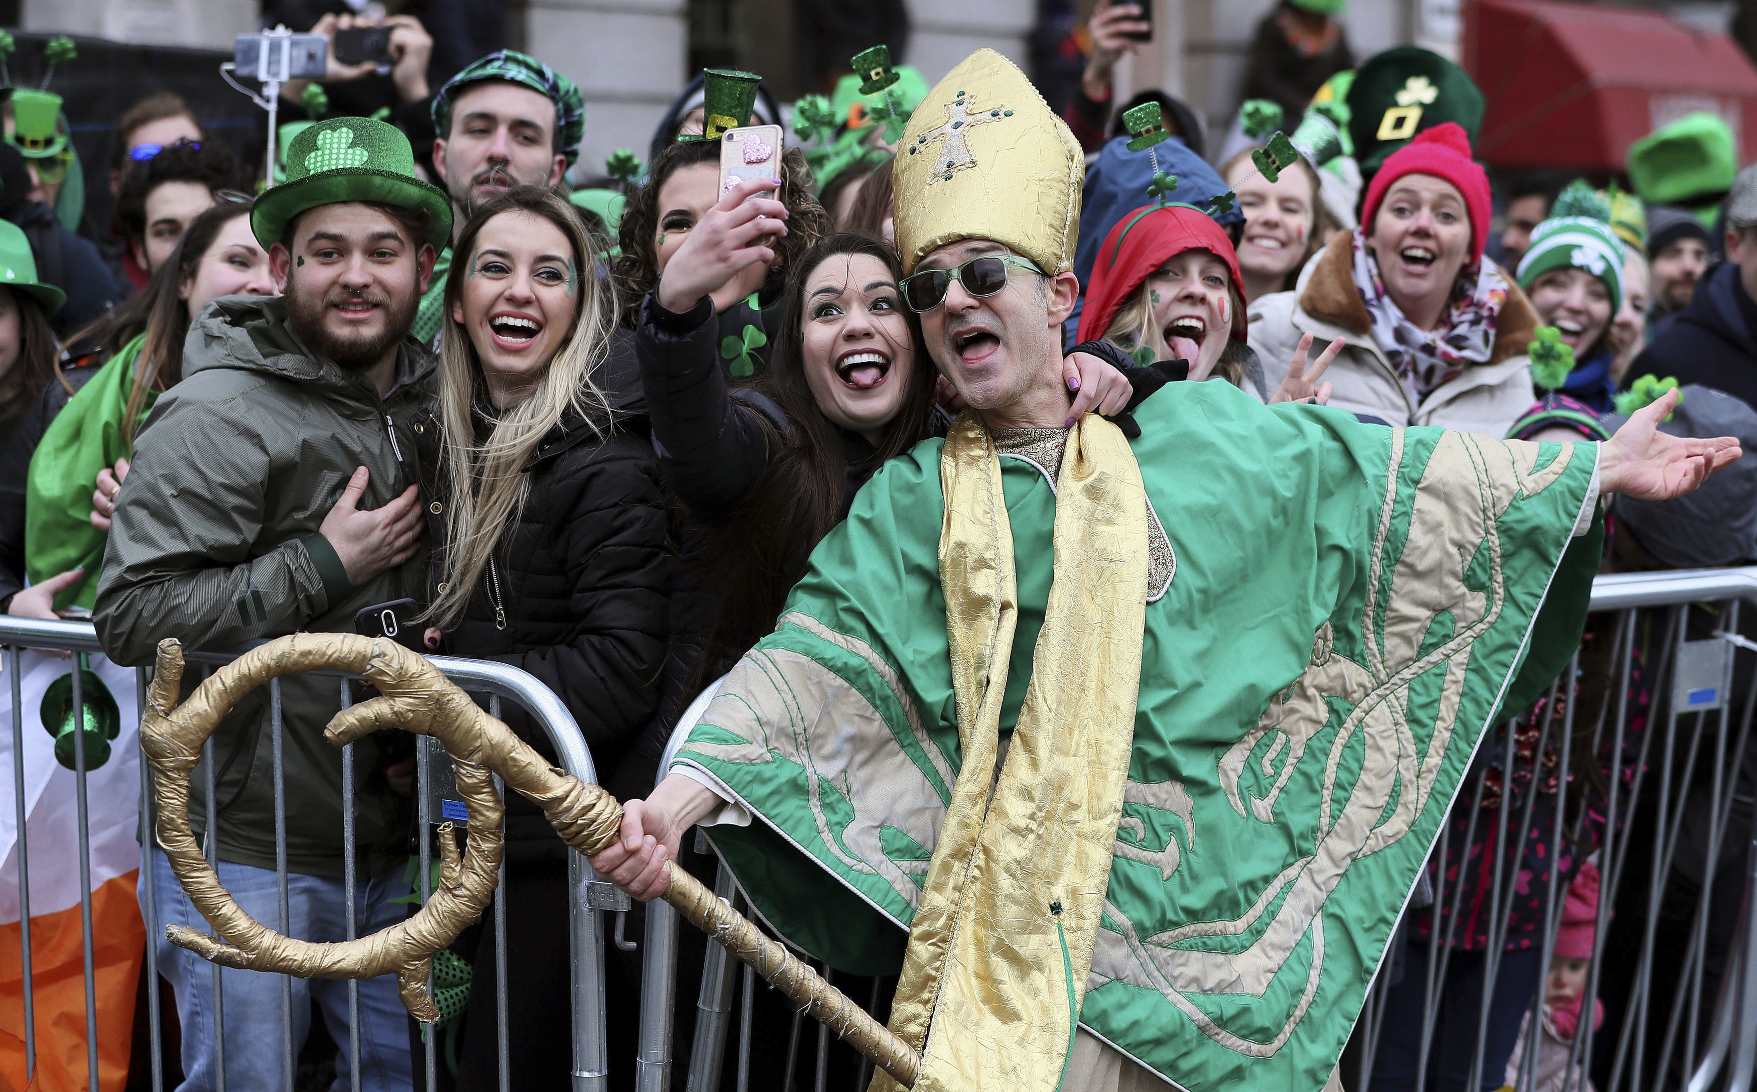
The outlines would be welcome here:
M 104 531 L 91 526 L 91 491 L 98 471 L 134 454 L 123 440 L 123 415 L 134 392 L 141 334 L 79 389 L 42 434 L 25 478 L 25 573 L 32 584 L 86 566 L 77 584 L 56 596 L 56 608 L 91 608 L 98 594 Z M 149 390 L 141 419 L 158 399 Z

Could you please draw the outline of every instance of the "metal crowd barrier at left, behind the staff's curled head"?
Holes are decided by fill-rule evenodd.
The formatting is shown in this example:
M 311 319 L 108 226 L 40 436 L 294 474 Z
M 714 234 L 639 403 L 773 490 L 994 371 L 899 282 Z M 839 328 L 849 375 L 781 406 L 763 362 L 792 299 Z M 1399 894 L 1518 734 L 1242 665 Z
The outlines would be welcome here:
M 5 649 L 5 673 L 11 679 L 12 691 L 12 784 L 16 798 L 16 818 L 18 818 L 18 870 L 19 870 L 19 927 L 21 927 L 21 964 L 23 964 L 23 997 L 25 997 L 25 1059 L 26 1073 L 35 1074 L 37 1069 L 37 1027 L 32 1006 L 32 944 L 30 944 L 30 885 L 28 879 L 28 832 L 26 832 L 26 809 L 25 809 L 25 710 L 21 705 L 19 693 L 19 661 L 23 649 L 49 649 L 49 651 L 67 651 L 67 652 L 102 652 L 97 642 L 97 633 L 90 622 L 72 622 L 72 621 L 42 621 L 26 617 L 9 617 L 0 615 L 0 647 Z M 202 654 L 202 652 L 184 652 L 184 659 L 192 665 L 223 665 L 230 663 L 237 652 L 232 654 Z M 469 693 L 488 695 L 488 712 L 499 716 L 501 702 L 511 700 L 522 705 L 531 717 L 543 726 L 548 735 L 550 744 L 555 747 L 557 760 L 560 767 L 587 783 L 596 783 L 597 775 L 592 767 L 592 754 L 585 746 L 585 737 L 580 733 L 580 726 L 575 723 L 573 714 L 562 705 L 548 688 L 538 682 L 532 675 L 503 663 L 481 661 L 481 659 L 460 659 L 455 656 L 430 656 L 432 663 L 446 673 L 448 679 L 457 682 Z M 72 668 L 72 663 L 69 665 Z M 192 668 L 204 670 L 204 668 Z M 341 688 L 341 705 L 350 703 L 350 686 L 348 682 L 355 675 L 346 675 L 343 672 L 315 672 L 322 675 L 332 675 Z M 137 672 L 137 693 L 139 707 L 144 712 L 146 703 L 146 682 L 149 677 L 149 668 L 139 668 Z M 81 709 L 81 672 L 72 672 L 72 705 Z M 281 686 L 279 679 L 269 682 L 269 702 L 271 702 L 271 746 L 274 758 L 274 819 L 276 819 L 276 879 L 279 886 L 279 921 L 265 921 L 278 928 L 279 932 L 288 932 L 288 869 L 286 869 L 286 812 L 285 812 L 285 781 L 283 781 L 283 735 L 285 726 L 281 721 Z M 427 737 L 416 737 L 416 781 L 415 781 L 415 800 L 416 812 L 420 819 L 420 897 L 425 902 L 430 893 L 432 883 L 432 828 L 450 816 L 434 814 L 434 793 L 430 790 L 443 786 L 450 775 L 450 763 L 445 761 L 445 751 L 437 746 L 437 740 Z M 98 1039 L 97 1039 L 97 1002 L 95 1002 L 95 976 L 93 976 L 93 935 L 91 935 L 91 883 L 90 883 L 90 830 L 86 823 L 88 800 L 86 800 L 86 768 L 84 768 L 84 747 L 74 746 L 74 781 L 76 781 L 76 805 L 79 816 L 79 874 L 81 874 L 81 921 L 83 921 L 83 955 L 84 955 L 84 1023 L 86 1023 L 86 1062 L 88 1062 L 88 1088 L 98 1092 Z M 202 756 L 202 767 L 206 772 L 207 786 L 207 830 L 214 832 L 216 814 L 214 814 L 214 770 L 213 770 L 213 740 L 207 740 Z M 355 904 L 355 883 L 357 883 L 357 846 L 355 846 L 355 825 L 353 825 L 353 744 L 343 747 L 343 855 L 344 855 L 344 890 L 348 900 L 348 939 L 357 935 L 357 904 Z M 151 774 L 146 761 L 141 763 L 141 819 L 142 830 L 153 828 L 153 793 L 149 784 Z M 499 779 L 495 779 L 499 788 Z M 504 791 L 504 790 L 503 790 Z M 441 805 L 443 807 L 443 805 Z M 445 809 L 450 811 L 450 809 Z M 462 816 L 457 816 L 462 818 Z M 207 837 L 207 858 L 209 863 L 216 860 L 216 839 Z M 151 848 L 142 846 L 141 849 L 141 876 L 146 881 L 142 892 L 142 909 L 148 918 L 146 921 L 146 995 L 148 995 L 148 1022 L 151 1029 L 151 1087 L 153 1092 L 162 1092 L 163 1088 L 163 1045 L 160 1041 L 160 979 L 156 967 L 155 937 L 163 935 L 163 923 L 156 918 L 155 907 L 158 906 L 156 885 L 153 881 L 153 862 Z M 571 1088 L 575 1092 L 603 1092 L 606 1087 L 608 1059 L 604 1043 L 604 927 L 603 911 L 604 909 L 625 909 L 627 900 L 618 892 L 610 888 L 610 885 L 599 881 L 592 872 L 590 865 L 578 853 L 569 855 L 568 867 L 568 886 L 569 886 L 569 950 L 571 950 L 571 997 L 573 1006 L 573 1080 Z M 499 1087 L 503 1092 L 511 1088 L 510 1078 L 510 1059 L 508 1059 L 508 1023 L 506 1023 L 506 869 L 501 867 L 501 881 L 495 888 L 494 900 L 494 921 L 492 921 L 492 944 L 495 955 L 495 999 L 497 999 L 497 1046 L 499 1046 Z M 620 920 L 618 920 L 620 934 Z M 488 937 L 483 943 L 490 943 Z M 220 999 L 220 1011 L 214 1013 L 214 1067 L 216 1083 L 220 1092 L 225 1092 L 225 1008 L 221 994 L 220 967 L 213 967 L 214 995 Z M 348 983 L 348 1043 L 344 1050 L 348 1052 L 350 1074 L 353 1087 L 360 1087 L 360 1022 L 358 1022 L 358 983 Z M 281 1022 L 279 1022 L 279 1046 L 281 1046 L 281 1073 L 283 1083 L 288 1090 L 293 1088 L 293 1067 L 299 1055 L 299 1045 L 293 1043 L 293 1016 L 292 1016 L 292 979 L 281 976 Z M 267 1030 L 267 1029 L 264 1029 Z M 425 1036 L 425 1088 L 434 1092 L 437 1087 L 437 1057 L 436 1043 L 439 1036 L 429 1030 Z M 118 1090 L 119 1092 L 119 1090 Z M 255 1090 L 234 1090 L 234 1092 L 255 1092 Z

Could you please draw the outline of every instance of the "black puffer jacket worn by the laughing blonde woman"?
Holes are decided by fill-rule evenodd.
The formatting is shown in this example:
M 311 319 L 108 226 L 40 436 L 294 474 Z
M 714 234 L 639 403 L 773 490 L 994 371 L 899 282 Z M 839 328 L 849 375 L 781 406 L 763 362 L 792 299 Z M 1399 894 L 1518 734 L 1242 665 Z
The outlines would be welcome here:
M 409 427 L 422 454 L 422 498 L 434 549 L 429 594 L 436 594 L 450 499 L 439 475 L 436 408 L 415 413 Z M 645 419 L 620 417 L 608 440 L 583 420 L 568 419 L 543 440 L 527 470 L 531 496 L 518 524 L 503 535 L 483 587 L 462 622 L 445 635 L 441 651 L 497 659 L 536 675 L 580 723 L 597 777 L 608 786 L 659 705 L 673 564 L 659 464 Z M 555 756 L 543 730 L 520 709 L 508 703 L 503 714 L 520 739 Z M 515 797 L 506 811 L 508 841 L 536 842 L 510 848 L 510 856 L 564 853 L 532 804 Z

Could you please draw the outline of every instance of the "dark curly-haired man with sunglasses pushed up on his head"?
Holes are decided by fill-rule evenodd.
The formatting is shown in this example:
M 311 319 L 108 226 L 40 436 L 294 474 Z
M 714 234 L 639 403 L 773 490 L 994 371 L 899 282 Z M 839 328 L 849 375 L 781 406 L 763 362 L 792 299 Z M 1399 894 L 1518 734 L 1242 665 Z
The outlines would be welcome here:
M 155 148 L 149 157 L 139 151 Z M 116 197 L 116 229 L 123 239 L 123 273 L 135 290 L 165 264 L 190 223 L 220 200 L 221 192 L 248 185 L 223 141 L 177 141 L 165 148 L 141 144 Z

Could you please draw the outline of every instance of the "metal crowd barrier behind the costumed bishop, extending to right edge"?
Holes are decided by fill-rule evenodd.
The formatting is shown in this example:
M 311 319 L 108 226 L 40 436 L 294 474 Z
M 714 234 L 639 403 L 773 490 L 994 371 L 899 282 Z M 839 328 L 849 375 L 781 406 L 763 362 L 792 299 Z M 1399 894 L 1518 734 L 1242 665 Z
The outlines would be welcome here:
M 1739 885 L 1738 928 L 1731 937 L 1713 935 L 1710 921 L 1710 902 L 1715 885 L 1715 862 L 1720 856 L 1722 841 L 1729 834 L 1729 819 L 1734 807 L 1752 807 L 1748 786 L 1738 784 L 1738 772 L 1746 761 L 1746 744 L 1750 740 L 1752 709 L 1757 707 L 1757 642 L 1738 633 L 1739 605 L 1757 605 L 1757 566 L 1729 570 L 1694 570 L 1660 573 L 1618 573 L 1604 575 L 1594 582 L 1592 610 L 1615 612 L 1615 624 L 1608 630 L 1615 635 L 1609 693 L 1602 703 L 1602 714 L 1590 726 L 1590 746 L 1594 754 L 1611 756 L 1611 775 L 1602 793 L 1594 791 L 1587 802 L 1595 811 L 1595 819 L 1602 821 L 1604 835 L 1597 851 L 1597 865 L 1602 874 L 1597 934 L 1594 960 L 1588 971 L 1583 1011 L 1588 1013 L 1580 1022 L 1580 1030 L 1569 1046 L 1567 1067 L 1560 1083 L 1548 1085 L 1558 1092 L 1585 1092 L 1585 1078 L 1590 1076 L 1597 1092 L 1636 1092 L 1646 1088 L 1676 1088 L 1680 1092 L 1748 1092 L 1752 1076 L 1757 1071 L 1757 900 L 1752 899 L 1753 879 L 1757 879 L 1757 830 L 1745 835 L 1743 869 L 1734 877 Z M 1701 640 L 1687 640 L 1688 612 L 1708 612 L 1715 619 L 1710 633 Z M 1630 735 L 1630 723 L 1639 710 L 1630 709 L 1629 682 L 1634 651 L 1643 647 L 1645 677 L 1652 695 L 1652 709 L 1646 710 L 1646 730 L 1636 740 Z M 1743 659 L 1736 659 L 1743 658 Z M 1680 670 L 1680 665 L 1681 670 Z M 1752 686 L 1745 693 L 1731 693 L 1734 666 L 1750 673 Z M 1574 656 L 1578 675 L 1580 656 Z M 1680 689 L 1681 688 L 1681 689 Z M 1680 689 L 1680 693 L 1673 693 Z M 1711 700 L 1704 691 L 1713 691 Z M 1546 714 L 1539 726 L 1539 740 L 1534 763 L 1546 754 L 1551 740 L 1560 744 L 1560 768 L 1569 768 L 1569 749 L 1576 737 L 1573 712 L 1576 700 L 1562 702 L 1564 712 L 1557 716 L 1557 686 L 1550 689 Z M 705 695 L 680 719 L 680 728 L 671 739 L 659 767 L 659 777 L 671 765 L 671 758 L 680 746 L 687 728 L 694 724 L 706 709 Z M 1506 710 L 1518 714 L 1523 710 Z M 1634 763 L 1629 763 L 1627 784 L 1620 775 L 1618 760 L 1623 756 L 1623 744 L 1630 742 L 1639 749 Z M 1465 1036 L 1474 1034 L 1474 1052 L 1471 1052 L 1471 1073 L 1462 1087 L 1497 1088 L 1502 1085 L 1500 1073 L 1485 1073 L 1485 1039 L 1488 1034 L 1490 1006 L 1493 986 L 1500 972 L 1502 946 L 1508 943 L 1506 918 L 1513 899 L 1522 886 L 1516 869 L 1506 867 L 1506 853 L 1500 851 L 1504 839 L 1516 839 L 1522 846 L 1532 832 L 1532 809 L 1537 800 L 1536 775 L 1532 788 L 1523 793 L 1513 790 L 1513 770 L 1520 754 L 1515 751 L 1516 733 L 1504 732 L 1504 739 L 1492 728 L 1485 733 L 1478 761 L 1455 802 L 1453 816 L 1442 826 L 1442 837 L 1435 853 L 1444 862 L 1451 819 L 1465 816 L 1467 835 L 1472 844 L 1478 832 L 1483 832 L 1493 846 L 1495 865 L 1486 895 L 1490 909 L 1490 935 L 1485 946 L 1483 983 L 1476 1011 L 1441 1015 L 1441 995 L 1444 990 L 1444 972 L 1450 950 L 1441 943 L 1451 934 L 1451 925 L 1458 914 L 1458 885 L 1453 885 L 1451 902 L 1441 869 L 1441 883 L 1434 890 L 1432 920 L 1437 923 L 1430 934 L 1435 941 L 1430 948 L 1421 986 L 1421 1030 L 1420 1062 L 1414 1080 L 1409 1085 L 1392 1081 L 1374 1081 L 1374 1062 L 1385 1046 L 1383 1030 L 1392 988 L 1392 976 L 1381 965 L 1374 979 L 1362 1018 L 1356 1025 L 1349 1050 L 1344 1053 L 1341 1080 L 1348 1092 L 1400 1092 L 1404 1087 L 1423 1092 L 1427 1088 L 1451 1088 L 1432 1080 L 1432 1059 L 1437 1052 L 1437 1039 L 1444 1022 L 1462 1022 Z M 1757 758 L 1757 756 L 1752 756 Z M 1483 802 L 1483 767 L 1500 761 L 1502 791 L 1499 805 Z M 1753 763 L 1757 765 L 1757 763 Z M 1534 765 L 1536 770 L 1536 765 Z M 1704 784 L 1706 783 L 1706 784 Z M 1678 941 L 1676 935 L 1660 937 L 1660 911 L 1667 895 L 1676 895 L 1671 877 L 1671 865 L 1676 860 L 1680 830 L 1685 819 L 1685 805 L 1690 793 L 1697 797 L 1706 790 L 1706 811 L 1711 816 L 1706 844 L 1706 879 L 1697 895 L 1696 906 L 1685 907 L 1692 918 L 1688 935 L 1681 937 L 1683 964 L 1660 965 L 1659 941 Z M 1550 862 L 1548 899 L 1544 906 L 1544 923 L 1541 939 L 1536 943 L 1541 951 L 1541 976 L 1536 994 L 1530 997 L 1527 1013 L 1529 1027 L 1536 1029 L 1541 1015 L 1544 979 L 1555 948 L 1557 925 L 1560 923 L 1565 899 L 1565 881 L 1557 881 L 1557 860 L 1564 851 L 1564 821 L 1571 791 L 1587 791 L 1587 786 L 1574 784 L 1562 775 L 1555 790 L 1557 828 L 1548 846 Z M 1574 823 L 1578 832 L 1578 821 Z M 1488 837 L 1492 835 L 1492 837 Z M 698 841 L 703 846 L 703 841 Z M 1636 881 L 1623 881 L 1632 865 L 1648 865 L 1648 874 L 1639 877 L 1646 885 L 1645 920 L 1639 921 L 1639 941 L 1634 950 L 1608 950 L 1611 937 L 1611 911 L 1629 893 L 1643 895 Z M 1720 877 L 1725 881 L 1725 877 Z M 715 890 L 741 906 L 741 892 L 724 863 L 719 863 Z M 1409 913 L 1406 911 L 1406 920 Z M 1703 985 L 1708 971 L 1711 943 L 1725 948 L 1725 964 L 1720 974 L 1720 988 L 1706 990 Z M 1634 965 L 1632 983 L 1620 990 L 1618 997 L 1604 997 L 1601 990 L 1601 969 L 1606 957 L 1613 955 L 1620 965 Z M 678 928 L 676 914 L 662 902 L 647 907 L 647 951 L 643 953 L 643 990 L 641 990 L 641 1036 L 636 1062 L 636 1088 L 640 1092 L 666 1092 L 671 1087 L 673 1064 L 673 1016 L 676 1013 L 676 962 Z M 828 969 L 824 969 L 828 971 Z M 1674 972 L 1669 985 L 1659 981 Z M 828 974 L 826 974 L 828 976 Z M 752 1032 L 754 1032 L 754 995 L 756 979 L 745 971 L 740 979 L 733 976 L 733 964 L 726 951 L 710 946 L 701 974 L 701 986 L 696 999 L 696 1030 L 689 1050 L 687 1088 L 689 1092 L 713 1092 L 722 1087 L 722 1067 L 726 1064 L 727 1039 L 733 1036 L 734 994 L 736 994 L 736 1088 L 745 1092 L 750 1083 Z M 1606 1008 L 1615 1008 L 1616 1020 L 1608 1020 L 1602 1032 L 1594 1029 L 1590 1013 L 1594 999 L 1604 999 Z M 875 983 L 873 1006 L 878 1004 Z M 780 1029 L 773 1029 L 780 1030 Z M 798 1057 L 801 1046 L 799 1016 L 792 1016 L 792 1027 L 773 1041 L 787 1041 L 785 1078 L 780 1092 L 794 1092 L 796 1076 L 805 1066 L 813 1064 L 812 1088 L 828 1092 L 826 1053 L 829 1039 L 824 1029 L 817 1029 L 819 1041 L 815 1057 Z M 1527 1041 L 1518 1073 L 1508 1085 L 1518 1092 L 1537 1087 L 1539 1052 Z M 836 1045 L 838 1050 L 847 1050 Z M 810 1052 L 810 1046 L 808 1046 Z M 798 1062 L 798 1064 L 796 1064 Z M 842 1073 L 857 1073 L 857 1081 L 850 1092 L 863 1092 L 870 1069 L 861 1066 L 843 1066 Z M 840 1083 L 840 1081 L 838 1081 Z

